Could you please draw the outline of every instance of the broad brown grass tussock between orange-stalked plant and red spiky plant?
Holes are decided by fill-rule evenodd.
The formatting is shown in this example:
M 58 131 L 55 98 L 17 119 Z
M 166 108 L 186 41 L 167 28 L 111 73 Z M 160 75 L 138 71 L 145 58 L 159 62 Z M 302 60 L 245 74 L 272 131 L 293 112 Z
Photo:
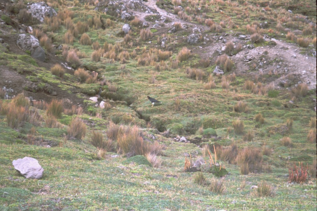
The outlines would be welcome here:
M 240 174 L 246 175 L 249 172 L 260 173 L 262 171 L 262 152 L 256 148 L 244 148 L 236 158 L 240 166 Z

